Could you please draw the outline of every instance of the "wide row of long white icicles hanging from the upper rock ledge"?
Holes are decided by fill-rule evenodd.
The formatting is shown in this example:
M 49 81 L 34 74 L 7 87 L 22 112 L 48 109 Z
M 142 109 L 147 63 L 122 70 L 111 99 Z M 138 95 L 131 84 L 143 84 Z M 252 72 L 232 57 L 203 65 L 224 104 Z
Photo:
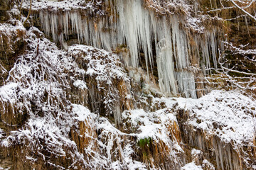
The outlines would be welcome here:
M 156 55 L 161 91 L 197 98 L 195 74 L 189 68 L 198 65 L 204 74 L 208 74 L 211 60 L 216 67 L 214 31 L 202 36 L 190 35 L 185 28 L 181 28 L 181 18 L 158 18 L 153 11 L 144 8 L 141 0 L 105 3 L 112 7 L 111 13 L 114 14 L 98 18 L 97 21 L 85 16 L 82 11 L 41 11 L 43 30 L 63 47 L 69 35 L 76 35 L 80 43 L 108 51 L 127 44 L 130 53 L 127 65 L 139 67 L 139 52 L 144 52 L 148 73 L 154 65 L 153 56 Z M 195 43 L 192 45 L 191 41 Z M 154 47 L 156 54 L 153 52 Z

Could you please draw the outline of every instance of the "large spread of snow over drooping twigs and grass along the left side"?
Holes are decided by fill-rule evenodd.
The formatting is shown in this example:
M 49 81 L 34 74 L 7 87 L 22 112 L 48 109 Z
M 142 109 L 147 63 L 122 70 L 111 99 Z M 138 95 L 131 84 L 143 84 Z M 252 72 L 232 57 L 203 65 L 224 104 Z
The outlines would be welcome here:
M 11 30 L 9 25 L 1 28 Z M 33 150 L 46 164 L 58 169 L 63 167 L 53 164 L 50 157 L 42 153 L 54 155 L 53 157 L 68 157 L 73 162 L 82 162 L 84 166 L 89 166 L 68 134 L 73 126 L 78 127 L 78 121 L 90 122 L 95 115 L 85 106 L 72 105 L 65 92 L 73 84 L 82 84 L 80 79 L 85 77 L 85 70 L 82 71 L 72 57 L 68 57 L 67 52 L 58 50 L 46 38 L 37 38 L 35 33 L 43 35 L 37 28 L 26 31 L 25 41 L 29 50 L 17 57 L 5 85 L 0 87 L 1 107 L 6 108 L 6 104 L 12 103 L 11 107 L 17 112 L 9 113 L 6 109 L 1 111 L 8 114 L 23 114 L 26 111 L 29 118 L 21 128 L 4 137 L 1 145 L 10 147 L 28 144 L 26 152 Z M 90 152 L 92 149 L 89 147 L 87 153 Z M 26 158 L 36 161 L 38 157 L 29 155 Z

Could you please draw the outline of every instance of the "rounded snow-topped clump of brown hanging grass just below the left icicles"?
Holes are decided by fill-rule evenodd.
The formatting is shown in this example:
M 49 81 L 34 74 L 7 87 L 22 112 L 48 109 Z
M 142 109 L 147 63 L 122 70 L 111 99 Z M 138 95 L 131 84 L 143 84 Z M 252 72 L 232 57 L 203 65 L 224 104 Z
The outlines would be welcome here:
M 119 57 L 85 45 L 71 46 L 68 55 L 85 70 L 92 111 L 114 114 L 115 123 L 120 123 L 121 112 L 132 108 L 132 101 L 129 78 Z

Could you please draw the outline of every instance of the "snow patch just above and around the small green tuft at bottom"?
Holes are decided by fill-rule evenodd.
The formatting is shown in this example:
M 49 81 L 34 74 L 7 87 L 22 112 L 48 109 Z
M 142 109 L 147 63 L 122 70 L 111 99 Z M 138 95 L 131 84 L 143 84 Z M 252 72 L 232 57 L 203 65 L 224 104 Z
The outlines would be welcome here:
M 129 135 L 136 136 L 137 141 L 151 138 L 156 144 L 164 142 L 169 150 L 169 157 L 175 164 L 181 164 L 178 155 L 184 151 L 178 144 L 179 139 L 175 137 L 170 139 L 171 131 L 169 130 L 169 126 L 174 126 L 177 120 L 172 113 L 169 113 L 168 108 L 151 113 L 146 113 L 143 110 L 125 111 L 122 113 L 122 118 L 125 120 L 124 124 L 131 123 L 131 127 L 127 128 L 137 131 L 137 133 Z

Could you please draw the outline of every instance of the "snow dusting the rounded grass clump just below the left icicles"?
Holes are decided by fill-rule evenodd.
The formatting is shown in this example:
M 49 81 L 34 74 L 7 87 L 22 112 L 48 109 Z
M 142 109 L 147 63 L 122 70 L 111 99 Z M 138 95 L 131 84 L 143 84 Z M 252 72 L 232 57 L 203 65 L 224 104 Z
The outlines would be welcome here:
M 82 62 L 85 75 L 96 81 L 97 84 L 88 84 L 91 88 L 88 91 L 92 100 L 99 100 L 95 96 L 95 90 L 104 93 L 103 98 L 100 100 L 105 104 L 106 115 L 113 114 L 115 123 L 120 123 L 121 108 L 118 98 L 129 96 L 130 79 L 119 57 L 112 52 L 86 45 L 70 46 L 68 55 L 78 60 L 78 62 Z M 119 83 L 122 84 L 121 87 Z M 96 85 L 97 89 L 94 89 L 93 85 Z M 127 91 L 119 91 L 119 88 L 127 89 Z

